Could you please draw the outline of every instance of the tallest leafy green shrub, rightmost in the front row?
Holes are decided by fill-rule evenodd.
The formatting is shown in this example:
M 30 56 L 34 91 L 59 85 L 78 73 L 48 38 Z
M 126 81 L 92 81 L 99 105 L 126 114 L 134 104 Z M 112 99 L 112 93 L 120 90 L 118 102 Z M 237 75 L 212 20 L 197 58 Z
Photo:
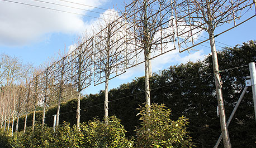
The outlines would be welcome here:
M 136 129 L 136 147 L 192 147 L 186 126 L 188 119 L 170 119 L 170 109 L 154 103 L 149 109 L 140 107 L 140 120 Z

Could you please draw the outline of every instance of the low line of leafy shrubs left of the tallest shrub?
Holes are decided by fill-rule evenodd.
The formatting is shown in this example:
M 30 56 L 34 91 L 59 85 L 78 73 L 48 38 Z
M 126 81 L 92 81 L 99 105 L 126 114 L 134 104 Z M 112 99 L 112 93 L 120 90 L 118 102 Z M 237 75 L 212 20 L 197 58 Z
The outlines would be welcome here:
M 80 129 L 64 122 L 53 127 L 35 126 L 32 131 L 16 132 L 8 136 L 0 132 L 1 147 L 132 147 L 133 142 L 125 137 L 124 126 L 115 116 L 108 118 L 108 124 L 97 119 L 87 124 L 81 124 Z

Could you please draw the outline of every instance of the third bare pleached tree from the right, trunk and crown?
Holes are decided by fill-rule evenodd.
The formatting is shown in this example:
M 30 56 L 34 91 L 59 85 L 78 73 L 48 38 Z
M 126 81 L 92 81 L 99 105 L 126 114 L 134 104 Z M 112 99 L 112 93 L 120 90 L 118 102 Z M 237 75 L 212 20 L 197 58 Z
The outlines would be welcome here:
M 108 81 L 111 73 L 118 73 L 125 68 L 124 24 L 120 22 L 117 14 L 112 14 L 112 17 L 100 22 L 98 27 L 100 31 L 96 33 L 94 41 L 94 85 L 105 78 L 104 108 L 107 119 Z

